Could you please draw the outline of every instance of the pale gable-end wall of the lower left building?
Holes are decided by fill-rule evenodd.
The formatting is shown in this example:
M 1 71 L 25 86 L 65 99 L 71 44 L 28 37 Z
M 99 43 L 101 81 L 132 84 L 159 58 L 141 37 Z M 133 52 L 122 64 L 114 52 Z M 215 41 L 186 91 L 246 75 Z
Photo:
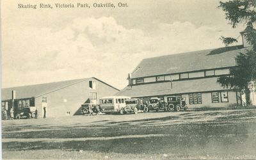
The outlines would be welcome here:
M 90 80 L 97 82 L 97 88 L 95 90 L 89 88 Z M 81 113 L 81 104 L 88 100 L 90 92 L 97 92 L 99 100 L 100 97 L 114 95 L 118 90 L 92 78 L 62 88 L 61 90 L 47 93 L 42 95 L 47 97 L 47 117 L 68 116 L 67 111 L 70 112 L 70 115 Z M 42 109 L 42 96 L 36 97 L 35 100 L 39 118 L 42 118 L 44 115 L 44 110 Z

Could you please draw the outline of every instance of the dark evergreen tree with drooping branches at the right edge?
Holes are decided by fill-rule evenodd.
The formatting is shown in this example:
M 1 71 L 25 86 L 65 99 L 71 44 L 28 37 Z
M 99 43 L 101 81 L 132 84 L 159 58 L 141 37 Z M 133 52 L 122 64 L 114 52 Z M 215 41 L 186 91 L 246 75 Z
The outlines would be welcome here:
M 250 104 L 248 84 L 256 80 L 256 0 L 230 0 L 221 2 L 220 6 L 226 15 L 228 24 L 236 28 L 238 24 L 245 24 L 244 38 L 252 45 L 246 53 L 236 56 L 236 67 L 230 68 L 230 76 L 221 76 L 217 82 L 223 87 L 244 90 L 246 104 Z M 221 36 L 223 44 L 230 45 L 237 42 L 236 38 Z

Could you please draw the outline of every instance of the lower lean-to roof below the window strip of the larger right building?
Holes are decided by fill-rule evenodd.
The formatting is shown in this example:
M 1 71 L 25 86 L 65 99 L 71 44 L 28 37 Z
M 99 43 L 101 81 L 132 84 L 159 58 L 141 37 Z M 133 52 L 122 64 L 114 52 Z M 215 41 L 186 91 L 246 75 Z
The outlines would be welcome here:
M 173 81 L 163 83 L 140 84 L 134 86 L 126 86 L 116 95 L 124 95 L 129 97 L 148 97 L 156 95 L 173 95 L 180 93 L 195 92 L 211 92 L 216 90 L 225 90 L 220 84 L 216 83 L 217 77 L 209 77 L 204 79 L 193 79 L 184 81 Z

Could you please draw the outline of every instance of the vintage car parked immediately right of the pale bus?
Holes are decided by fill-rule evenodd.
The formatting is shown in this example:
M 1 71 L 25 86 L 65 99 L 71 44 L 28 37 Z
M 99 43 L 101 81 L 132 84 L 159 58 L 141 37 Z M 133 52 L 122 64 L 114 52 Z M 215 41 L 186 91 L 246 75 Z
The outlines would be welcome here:
M 137 114 L 140 109 L 141 109 L 140 99 L 126 99 L 125 100 L 124 113 L 133 112 L 134 114 Z

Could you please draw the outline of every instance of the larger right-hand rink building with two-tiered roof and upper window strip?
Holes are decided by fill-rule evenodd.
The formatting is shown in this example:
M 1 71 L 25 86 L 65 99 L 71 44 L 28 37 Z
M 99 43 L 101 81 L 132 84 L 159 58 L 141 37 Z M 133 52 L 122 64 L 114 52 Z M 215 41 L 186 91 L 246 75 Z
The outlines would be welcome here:
M 250 48 L 250 47 L 249 47 Z M 216 81 L 236 67 L 235 57 L 248 47 L 237 45 L 147 58 L 129 74 L 130 84 L 116 95 L 148 101 L 150 97 L 186 97 L 189 108 L 225 107 L 241 104 L 241 93 Z

